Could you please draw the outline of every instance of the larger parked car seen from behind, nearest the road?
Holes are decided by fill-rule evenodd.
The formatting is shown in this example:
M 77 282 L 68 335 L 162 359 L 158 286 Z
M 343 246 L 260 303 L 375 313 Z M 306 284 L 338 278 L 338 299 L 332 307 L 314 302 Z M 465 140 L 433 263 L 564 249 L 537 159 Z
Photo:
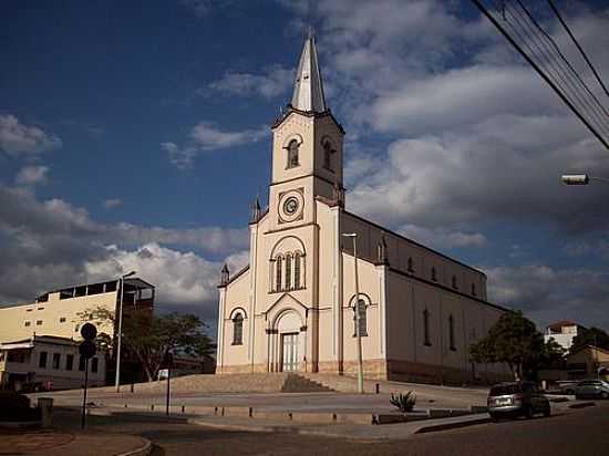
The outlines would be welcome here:
M 506 382 L 494 385 L 487 398 L 488 414 L 493 421 L 533 417 L 536 413 L 550 415 L 550 402 L 534 382 Z

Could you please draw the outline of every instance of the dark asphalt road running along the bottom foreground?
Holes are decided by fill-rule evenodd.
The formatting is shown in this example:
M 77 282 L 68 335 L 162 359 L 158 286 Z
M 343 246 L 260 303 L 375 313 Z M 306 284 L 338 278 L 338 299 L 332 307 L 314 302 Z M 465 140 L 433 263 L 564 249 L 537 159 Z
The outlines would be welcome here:
M 349 442 L 283 433 L 228 432 L 159 418 L 91 416 L 89 432 L 141 434 L 155 456 L 190 455 L 412 455 L 607 456 L 609 402 L 549 418 L 518 419 L 414 435 L 389 443 Z M 64 418 L 66 419 L 66 418 Z

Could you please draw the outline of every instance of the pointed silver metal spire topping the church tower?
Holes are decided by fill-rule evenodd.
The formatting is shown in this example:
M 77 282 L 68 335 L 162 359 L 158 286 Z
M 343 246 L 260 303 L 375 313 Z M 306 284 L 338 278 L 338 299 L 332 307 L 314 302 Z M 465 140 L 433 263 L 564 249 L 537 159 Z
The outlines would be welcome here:
M 323 83 L 317 60 L 316 39 L 311 30 L 304 41 L 296 71 L 291 105 L 296 110 L 322 113 L 327 110 Z

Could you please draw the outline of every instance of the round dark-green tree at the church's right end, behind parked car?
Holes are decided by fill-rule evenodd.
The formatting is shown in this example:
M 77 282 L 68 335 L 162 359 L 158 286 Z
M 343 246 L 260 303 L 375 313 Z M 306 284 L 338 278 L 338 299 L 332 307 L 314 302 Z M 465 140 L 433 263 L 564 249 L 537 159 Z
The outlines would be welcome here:
M 469 348 L 474 362 L 506 363 L 514 380 L 522 380 L 525 374 L 529 376 L 547 353 L 543 334 L 520 311 L 505 312 L 486 338 Z

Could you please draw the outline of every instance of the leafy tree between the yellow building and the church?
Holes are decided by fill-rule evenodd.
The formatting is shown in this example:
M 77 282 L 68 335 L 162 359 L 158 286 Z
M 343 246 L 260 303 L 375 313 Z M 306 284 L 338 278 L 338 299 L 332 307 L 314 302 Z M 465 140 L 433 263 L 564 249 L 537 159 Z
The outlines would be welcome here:
M 114 312 L 89 309 L 79 315 L 99 325 L 114 323 Z M 149 310 L 130 310 L 123 314 L 122 346 L 135 354 L 148 381 L 158 375 L 167 352 L 174 355 L 210 356 L 216 345 L 205 334 L 205 323 L 196 315 L 168 313 L 154 315 Z M 102 335 L 103 336 L 103 335 Z M 112 346 L 112 338 L 107 343 Z

